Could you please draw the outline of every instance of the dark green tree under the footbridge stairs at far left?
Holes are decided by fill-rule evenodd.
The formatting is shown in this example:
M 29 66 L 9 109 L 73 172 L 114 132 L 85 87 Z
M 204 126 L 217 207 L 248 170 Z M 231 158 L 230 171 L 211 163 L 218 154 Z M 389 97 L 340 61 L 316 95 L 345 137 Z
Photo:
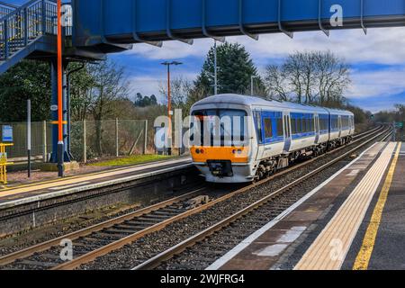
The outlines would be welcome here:
M 27 99 L 32 121 L 49 120 L 50 94 L 49 64 L 23 60 L 0 76 L 0 121 L 25 121 Z

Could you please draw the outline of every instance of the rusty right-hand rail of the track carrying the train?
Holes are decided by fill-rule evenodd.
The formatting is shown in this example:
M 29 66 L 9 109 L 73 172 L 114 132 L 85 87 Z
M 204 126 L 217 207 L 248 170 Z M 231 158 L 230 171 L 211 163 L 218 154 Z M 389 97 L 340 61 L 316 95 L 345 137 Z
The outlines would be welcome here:
M 383 127 L 381 127 L 380 130 L 383 130 Z M 365 138 L 367 138 L 369 135 L 371 135 L 373 133 L 374 132 L 370 132 L 366 136 L 362 137 L 361 139 L 356 139 L 356 141 L 354 141 L 354 142 L 352 142 L 350 144 L 354 144 L 354 143 L 356 143 L 356 142 L 358 142 L 358 141 L 360 141 L 362 139 L 365 139 Z M 348 144 L 348 145 L 350 145 L 350 144 Z M 325 153 L 325 154 L 321 155 L 320 157 L 324 157 L 326 155 L 329 155 L 330 153 L 337 152 L 338 150 L 340 150 L 342 148 L 346 148 L 346 147 L 347 146 L 342 146 L 340 148 L 336 148 L 336 149 L 334 149 L 332 151 L 329 151 L 328 153 Z M 216 199 L 214 201 L 203 204 L 202 206 L 196 207 L 196 208 L 194 208 L 194 209 L 192 209 L 190 211 L 185 211 L 182 214 L 178 214 L 173 218 L 170 218 L 170 219 L 164 220 L 162 222 L 159 222 L 156 225 L 148 227 L 147 229 L 140 230 L 140 231 L 138 231 L 138 232 L 126 237 L 126 238 L 121 238 L 121 239 L 119 239 L 119 240 L 117 240 L 115 242 L 112 242 L 112 243 L 104 246 L 104 247 L 100 247 L 98 249 L 95 249 L 94 251 L 89 252 L 89 253 L 81 256 L 81 257 L 77 257 L 77 258 L 73 259 L 72 261 L 68 261 L 68 262 L 66 262 L 66 263 L 64 263 L 62 265 L 51 268 L 51 270 L 72 270 L 72 269 L 75 269 L 75 268 L 77 268 L 77 267 L 79 267 L 81 265 L 92 262 L 96 258 L 107 255 L 107 254 L 111 253 L 114 250 L 117 250 L 117 249 L 119 249 L 121 247 L 124 247 L 125 245 L 128 245 L 131 242 L 134 242 L 135 240 L 137 240 L 139 238 L 143 238 L 143 237 L 147 236 L 148 234 L 156 232 L 156 231 L 158 231 L 160 229 L 164 229 L 167 225 L 169 225 L 171 223 L 174 223 L 175 221 L 183 220 L 185 218 L 188 218 L 188 217 L 190 217 L 190 216 L 192 216 L 192 215 L 194 215 L 196 213 L 199 213 L 201 211 L 207 210 L 208 208 L 211 208 L 213 205 L 215 205 L 215 204 L 217 204 L 219 202 L 224 202 L 224 201 L 228 200 L 229 198 L 238 195 L 239 193 L 245 193 L 245 192 L 249 191 L 250 189 L 252 189 L 252 188 L 254 188 L 254 187 L 258 186 L 258 185 L 266 184 L 267 182 L 275 179 L 275 177 L 285 175 L 285 174 L 287 174 L 287 173 L 289 173 L 289 172 L 291 172 L 293 170 L 296 170 L 296 169 L 298 169 L 298 168 L 300 168 L 302 166 L 306 166 L 306 165 L 310 164 L 311 162 L 319 159 L 320 157 L 314 157 L 314 158 L 312 158 L 312 159 L 310 159 L 308 161 L 305 161 L 305 162 L 303 162 L 303 163 L 301 163 L 299 165 L 292 166 L 290 168 L 281 170 L 280 173 L 277 173 L 275 175 L 271 175 L 271 176 L 267 177 L 266 179 L 263 179 L 263 180 L 261 180 L 261 181 L 259 181 L 257 183 L 250 184 L 250 185 L 248 185 L 246 187 L 238 189 L 235 192 L 228 193 L 228 194 L 226 194 L 226 195 L 224 195 L 224 196 L 222 196 L 222 197 L 220 197 L 220 198 L 218 198 L 218 199 Z

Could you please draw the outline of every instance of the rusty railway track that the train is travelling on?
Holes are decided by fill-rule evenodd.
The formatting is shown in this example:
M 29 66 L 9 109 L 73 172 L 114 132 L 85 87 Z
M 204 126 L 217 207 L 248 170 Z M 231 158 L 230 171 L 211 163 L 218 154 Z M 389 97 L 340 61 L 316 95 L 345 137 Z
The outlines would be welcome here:
M 377 136 L 374 136 L 372 139 L 363 141 L 361 146 L 364 146 L 366 143 L 378 137 L 378 135 L 382 133 L 382 130 L 383 128 L 377 128 L 358 134 L 355 137 L 355 141 L 350 145 L 361 142 L 370 136 L 377 134 Z M 335 149 L 320 157 L 336 153 L 344 148 L 347 147 Z M 184 220 L 192 215 L 211 208 L 217 203 L 225 202 L 238 194 L 245 193 L 252 187 L 265 184 L 272 179 L 275 179 L 275 177 L 280 177 L 281 175 L 288 174 L 302 166 L 306 166 L 320 157 L 312 158 L 311 160 L 287 168 L 284 171 L 270 176 L 256 184 L 238 189 L 232 193 L 224 193 L 208 202 L 205 200 L 205 202 L 194 205 L 195 207 L 192 207 L 193 205 L 187 206 L 185 203 L 189 203 L 190 200 L 195 201 L 193 198 L 201 196 L 204 193 L 207 193 L 207 191 L 204 191 L 202 188 L 191 193 L 186 193 L 166 202 L 161 202 L 145 209 L 134 211 L 115 219 L 96 224 L 92 227 L 67 234 L 63 237 L 55 238 L 13 254 L 0 257 L 0 266 L 4 269 L 77 268 L 94 261 L 98 257 L 105 256 L 114 250 L 124 247 L 129 243 L 139 241 L 139 239 L 142 239 L 147 235 L 166 228 L 166 226 L 171 223 Z M 59 256 L 61 250 L 59 244 L 64 239 L 73 241 L 73 247 L 75 247 L 75 258 L 67 262 L 60 260 Z

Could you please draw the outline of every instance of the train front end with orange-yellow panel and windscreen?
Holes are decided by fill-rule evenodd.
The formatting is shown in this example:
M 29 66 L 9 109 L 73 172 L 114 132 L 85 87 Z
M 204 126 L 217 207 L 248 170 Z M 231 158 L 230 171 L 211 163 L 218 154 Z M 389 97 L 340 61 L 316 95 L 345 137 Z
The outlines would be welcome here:
M 247 183 L 254 179 L 248 107 L 229 103 L 205 103 L 192 108 L 191 155 L 193 164 L 211 183 Z

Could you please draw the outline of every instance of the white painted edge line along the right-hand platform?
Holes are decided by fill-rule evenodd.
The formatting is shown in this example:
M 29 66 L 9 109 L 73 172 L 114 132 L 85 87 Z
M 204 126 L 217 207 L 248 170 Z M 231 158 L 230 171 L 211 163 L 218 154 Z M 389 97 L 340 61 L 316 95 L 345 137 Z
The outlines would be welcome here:
M 271 220 L 268 222 L 265 226 L 263 226 L 261 229 L 258 229 L 255 233 L 247 237 L 245 240 L 240 242 L 237 247 L 234 247 L 232 250 L 230 250 L 227 254 L 225 254 L 223 257 L 220 257 L 217 261 L 215 261 L 211 266 L 208 266 L 206 270 L 218 270 L 220 269 L 221 266 L 224 266 L 231 260 L 233 257 L 236 257 L 242 250 L 247 248 L 251 243 L 253 243 L 257 238 L 262 236 L 263 234 L 266 233 L 267 230 L 272 229 L 275 224 L 283 220 L 286 216 L 288 216 L 292 211 L 294 211 L 297 207 L 299 207 L 303 202 L 307 201 L 314 193 L 317 193 L 320 191 L 321 188 L 323 188 L 325 185 L 329 184 L 333 179 L 335 179 L 338 175 L 340 175 L 343 171 L 345 171 L 349 166 L 352 166 L 355 164 L 361 157 L 365 155 L 366 152 L 368 152 L 371 148 L 374 148 L 374 146 L 378 143 L 374 143 L 371 147 L 367 148 L 362 154 L 359 155 L 359 157 L 356 157 L 352 162 L 347 164 L 347 166 L 344 166 L 341 168 L 337 173 L 334 175 L 330 176 L 329 179 L 327 179 L 325 182 L 320 184 L 318 187 L 313 189 L 310 193 L 306 194 L 303 196 L 298 202 L 295 202 L 291 207 L 283 211 L 280 215 L 278 215 L 274 220 Z

